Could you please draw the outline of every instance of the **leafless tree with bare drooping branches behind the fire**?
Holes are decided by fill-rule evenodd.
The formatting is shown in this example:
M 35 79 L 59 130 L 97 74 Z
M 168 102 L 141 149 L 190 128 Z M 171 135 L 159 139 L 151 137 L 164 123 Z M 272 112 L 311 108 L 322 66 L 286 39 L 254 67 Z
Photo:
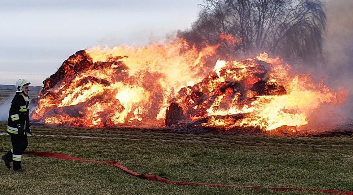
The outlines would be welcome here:
M 320 0 L 204 0 L 192 28 L 179 37 L 197 45 L 219 43 L 221 33 L 241 38 L 233 55 L 267 51 L 289 60 L 322 57 L 325 7 Z

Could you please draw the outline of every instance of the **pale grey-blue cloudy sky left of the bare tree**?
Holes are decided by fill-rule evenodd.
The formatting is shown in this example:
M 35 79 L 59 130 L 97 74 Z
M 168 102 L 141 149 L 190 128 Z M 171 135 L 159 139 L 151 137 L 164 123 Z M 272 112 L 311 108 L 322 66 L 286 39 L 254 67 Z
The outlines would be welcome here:
M 76 51 L 147 45 L 191 27 L 202 0 L 1 0 L 0 84 L 42 86 Z

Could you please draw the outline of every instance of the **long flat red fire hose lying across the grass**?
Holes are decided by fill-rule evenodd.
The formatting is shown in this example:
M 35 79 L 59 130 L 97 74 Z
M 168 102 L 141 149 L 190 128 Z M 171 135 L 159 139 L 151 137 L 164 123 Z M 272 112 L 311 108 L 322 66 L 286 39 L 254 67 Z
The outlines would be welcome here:
M 322 192 L 322 193 L 331 193 L 331 194 L 349 194 L 353 195 L 353 191 L 341 191 L 341 190 L 323 190 L 323 189 L 303 189 L 303 188 L 263 188 L 263 187 L 253 187 L 253 186 L 241 186 L 241 185 L 226 185 L 226 184 L 211 184 L 211 183 L 196 183 L 196 182 L 183 182 L 183 181 L 170 181 L 163 177 L 158 177 L 156 175 L 146 175 L 146 174 L 139 174 L 133 172 L 131 170 L 126 169 L 126 167 L 122 166 L 119 161 L 97 161 L 97 160 L 87 160 L 83 158 L 71 157 L 66 156 L 64 154 L 58 154 L 54 152 L 36 152 L 36 151 L 26 151 L 25 154 L 32 154 L 35 156 L 41 157 L 52 157 L 52 158 L 60 158 L 66 160 L 77 160 L 82 162 L 91 162 L 91 163 L 103 163 L 114 165 L 119 169 L 127 172 L 130 175 L 135 177 L 144 178 L 147 180 L 154 180 L 159 182 L 164 182 L 168 184 L 177 184 L 177 185 L 201 185 L 201 186 L 210 186 L 210 187 L 229 187 L 229 188 L 247 188 L 253 190 L 261 190 L 261 189 L 271 189 L 276 191 L 315 191 L 315 192 Z

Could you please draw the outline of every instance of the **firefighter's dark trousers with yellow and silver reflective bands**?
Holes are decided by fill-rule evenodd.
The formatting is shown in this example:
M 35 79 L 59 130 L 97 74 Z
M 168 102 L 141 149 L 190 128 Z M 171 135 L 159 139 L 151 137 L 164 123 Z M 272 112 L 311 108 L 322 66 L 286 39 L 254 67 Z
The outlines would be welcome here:
M 22 169 L 21 160 L 22 153 L 26 150 L 28 146 L 27 134 L 25 133 L 23 136 L 18 135 L 10 135 L 12 149 L 9 150 L 5 155 L 6 158 L 12 162 L 13 170 Z

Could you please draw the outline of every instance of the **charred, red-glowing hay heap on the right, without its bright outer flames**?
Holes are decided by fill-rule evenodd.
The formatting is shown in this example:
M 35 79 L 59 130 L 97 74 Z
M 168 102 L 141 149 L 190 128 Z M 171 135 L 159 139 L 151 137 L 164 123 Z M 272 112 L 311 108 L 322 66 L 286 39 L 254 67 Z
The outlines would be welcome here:
M 241 63 L 244 64 L 253 62 L 254 61 L 250 60 L 241 61 Z M 187 99 L 191 99 L 192 102 L 195 103 L 193 105 L 189 105 L 189 108 L 184 109 L 187 110 L 185 116 L 183 112 L 180 113 L 183 109 L 181 109 L 177 103 L 173 102 L 170 104 L 169 108 L 178 108 L 178 116 L 181 114 L 190 121 L 196 120 L 193 124 L 211 124 L 214 123 L 211 122 L 212 120 L 227 121 L 223 123 L 228 125 L 236 123 L 239 119 L 244 118 L 244 114 L 226 116 L 213 115 L 210 117 L 209 112 L 214 109 L 227 110 L 232 104 L 238 105 L 239 108 L 241 105 L 251 105 L 253 101 L 257 100 L 257 98 L 254 98 L 256 96 L 280 96 L 286 94 L 286 90 L 282 85 L 268 80 L 261 80 L 267 73 L 267 69 L 264 65 L 270 66 L 270 64 L 260 60 L 256 60 L 255 62 L 262 65 L 246 68 L 223 68 L 219 71 L 220 76 L 217 76 L 215 72 L 209 73 L 209 76 L 203 79 L 201 83 L 191 87 L 192 90 L 189 90 L 190 93 L 188 93 L 187 88 L 182 88 L 178 93 L 179 96 L 173 100 L 176 102 L 185 102 Z M 243 72 L 247 74 L 247 77 L 242 75 Z M 224 80 L 228 81 L 219 83 L 217 80 L 220 78 L 224 78 Z M 213 87 L 212 90 L 203 90 L 203 92 L 201 92 L 199 86 L 202 86 L 202 89 L 205 89 L 208 84 L 213 82 L 216 85 L 214 85 L 215 87 Z M 246 96 L 247 90 L 253 92 L 251 96 Z M 187 106 L 186 104 L 182 105 Z M 170 122 L 170 118 L 168 116 L 174 115 L 174 112 L 175 109 L 167 109 L 166 126 L 175 124 L 175 121 L 178 121 L 173 120 L 173 123 Z

